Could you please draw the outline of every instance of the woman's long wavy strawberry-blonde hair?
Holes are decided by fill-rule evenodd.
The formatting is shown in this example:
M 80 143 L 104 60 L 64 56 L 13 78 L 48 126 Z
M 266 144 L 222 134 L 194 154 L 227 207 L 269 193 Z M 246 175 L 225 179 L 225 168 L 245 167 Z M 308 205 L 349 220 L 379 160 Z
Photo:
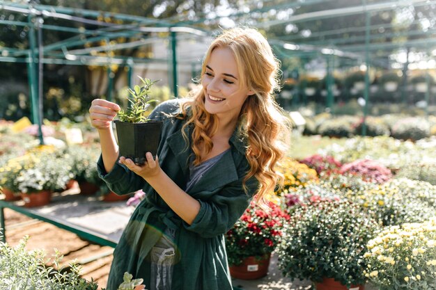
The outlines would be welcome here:
M 240 131 L 247 138 L 245 155 L 250 166 L 244 177 L 244 188 L 248 179 L 256 177 L 259 188 L 255 199 L 265 204 L 267 194 L 274 191 L 278 181 L 283 181 L 276 166 L 286 154 L 287 142 L 283 136 L 288 136 L 290 131 L 288 119 L 272 95 L 274 90 L 279 89 L 280 63 L 262 34 L 255 29 L 238 27 L 223 31 L 212 42 L 203 61 L 201 78 L 205 74 L 210 54 L 217 47 L 228 47 L 233 51 L 242 81 L 254 91 L 254 95 L 247 97 L 239 115 Z M 218 127 L 216 116 L 205 110 L 204 102 L 204 92 L 198 89 L 180 106 L 182 115 L 187 117 L 182 131 L 185 132 L 185 127 L 189 124 L 194 125 L 194 164 L 201 163 L 201 150 L 206 154 L 212 150 L 211 136 L 214 136 Z M 188 108 L 191 108 L 189 114 Z

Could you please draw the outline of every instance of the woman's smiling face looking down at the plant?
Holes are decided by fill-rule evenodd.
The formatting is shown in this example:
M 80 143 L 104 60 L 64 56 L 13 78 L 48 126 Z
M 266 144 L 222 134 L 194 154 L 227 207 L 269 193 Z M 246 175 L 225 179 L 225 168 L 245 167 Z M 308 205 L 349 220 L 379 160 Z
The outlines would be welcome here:
M 240 76 L 235 56 L 228 47 L 212 51 L 201 84 L 206 111 L 220 119 L 237 119 L 245 99 L 254 94 Z

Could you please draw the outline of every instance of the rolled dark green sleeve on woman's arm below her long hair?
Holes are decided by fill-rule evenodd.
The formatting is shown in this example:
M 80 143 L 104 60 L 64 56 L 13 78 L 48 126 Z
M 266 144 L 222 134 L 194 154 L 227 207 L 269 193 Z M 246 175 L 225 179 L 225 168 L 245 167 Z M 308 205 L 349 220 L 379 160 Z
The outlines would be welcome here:
M 212 238 L 228 232 L 244 214 L 254 193 L 258 181 L 252 177 L 246 182 L 247 193 L 242 188 L 243 177 L 226 185 L 208 200 L 198 200 L 200 211 L 191 225 L 184 223 L 186 229 L 196 232 L 203 238 Z

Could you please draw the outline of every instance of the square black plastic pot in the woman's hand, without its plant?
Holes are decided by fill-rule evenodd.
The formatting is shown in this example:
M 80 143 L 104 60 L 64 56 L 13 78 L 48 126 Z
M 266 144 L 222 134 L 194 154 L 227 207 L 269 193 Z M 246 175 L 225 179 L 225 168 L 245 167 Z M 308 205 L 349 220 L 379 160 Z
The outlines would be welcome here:
M 116 120 L 115 127 L 121 156 L 140 165 L 146 162 L 147 152 L 156 156 L 162 122 L 150 120 L 145 123 L 129 123 Z

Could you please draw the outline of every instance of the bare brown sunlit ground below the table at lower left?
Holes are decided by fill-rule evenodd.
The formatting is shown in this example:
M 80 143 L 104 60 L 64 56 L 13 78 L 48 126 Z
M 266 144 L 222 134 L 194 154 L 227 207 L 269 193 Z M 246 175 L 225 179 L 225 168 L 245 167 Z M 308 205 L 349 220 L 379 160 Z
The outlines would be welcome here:
M 26 249 L 44 249 L 47 258 L 53 257 L 55 250 L 59 250 L 61 266 L 68 266 L 76 261 L 82 266 L 82 275 L 86 280 L 91 278 L 98 282 L 99 289 L 106 287 L 107 276 L 112 262 L 113 248 L 97 245 L 77 234 L 59 229 L 49 223 L 33 220 L 10 209 L 4 209 L 6 223 L 6 241 L 14 246 L 26 235 L 29 236 Z

